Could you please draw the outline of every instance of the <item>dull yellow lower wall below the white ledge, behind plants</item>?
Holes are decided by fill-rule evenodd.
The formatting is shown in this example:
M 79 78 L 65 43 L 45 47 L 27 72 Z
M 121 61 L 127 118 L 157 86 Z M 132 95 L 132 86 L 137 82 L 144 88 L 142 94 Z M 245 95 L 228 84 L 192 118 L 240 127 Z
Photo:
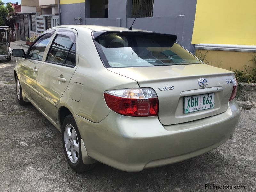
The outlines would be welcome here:
M 207 52 L 207 53 L 206 53 Z M 219 51 L 219 50 L 196 50 L 196 56 L 205 55 L 204 63 L 212 65 L 215 67 L 223 68 L 230 70 L 230 67 L 233 70 L 237 69 L 240 71 L 245 71 L 244 67 L 250 72 L 252 68 L 245 65 L 256 67 L 256 63 L 252 61 L 253 54 L 252 52 L 236 52 L 236 51 Z

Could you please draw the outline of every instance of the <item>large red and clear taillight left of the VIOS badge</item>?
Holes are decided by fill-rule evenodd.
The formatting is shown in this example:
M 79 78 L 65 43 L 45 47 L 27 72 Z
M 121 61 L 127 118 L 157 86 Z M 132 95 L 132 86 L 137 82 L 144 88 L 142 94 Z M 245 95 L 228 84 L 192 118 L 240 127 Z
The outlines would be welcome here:
M 125 116 L 157 116 L 158 98 L 151 88 L 118 89 L 104 92 L 110 109 Z

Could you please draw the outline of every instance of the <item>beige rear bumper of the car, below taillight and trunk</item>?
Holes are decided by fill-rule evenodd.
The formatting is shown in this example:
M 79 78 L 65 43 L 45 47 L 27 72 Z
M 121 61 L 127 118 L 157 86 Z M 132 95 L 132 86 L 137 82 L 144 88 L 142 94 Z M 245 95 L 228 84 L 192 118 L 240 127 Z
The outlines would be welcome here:
M 163 126 L 157 117 L 128 117 L 115 112 L 99 123 L 74 115 L 88 156 L 124 171 L 141 171 L 183 161 L 217 148 L 232 138 L 240 116 L 236 100 L 212 117 Z

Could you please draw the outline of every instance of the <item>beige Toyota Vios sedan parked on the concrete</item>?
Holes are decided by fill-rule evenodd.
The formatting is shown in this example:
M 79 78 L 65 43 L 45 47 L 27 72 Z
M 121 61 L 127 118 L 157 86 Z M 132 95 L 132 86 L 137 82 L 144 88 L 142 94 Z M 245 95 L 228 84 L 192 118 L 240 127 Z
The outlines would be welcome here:
M 240 110 L 234 73 L 175 43 L 177 36 L 106 26 L 45 31 L 14 68 L 20 105 L 62 133 L 76 172 L 97 161 L 141 171 L 183 161 L 232 138 Z

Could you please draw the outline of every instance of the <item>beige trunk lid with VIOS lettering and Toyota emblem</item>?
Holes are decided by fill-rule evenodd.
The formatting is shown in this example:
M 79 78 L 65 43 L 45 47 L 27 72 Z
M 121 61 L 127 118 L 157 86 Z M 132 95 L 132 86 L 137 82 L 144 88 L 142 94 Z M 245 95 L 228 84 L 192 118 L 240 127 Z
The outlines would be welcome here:
M 158 117 L 163 125 L 184 123 L 225 112 L 233 88 L 232 83 L 227 83 L 233 80 L 233 72 L 206 64 L 107 69 L 137 81 L 140 87 L 153 88 L 158 96 Z M 204 88 L 198 83 L 201 78 L 208 83 Z M 214 93 L 213 108 L 185 112 L 185 97 L 189 100 L 191 96 L 206 94 L 207 97 L 210 93 Z

